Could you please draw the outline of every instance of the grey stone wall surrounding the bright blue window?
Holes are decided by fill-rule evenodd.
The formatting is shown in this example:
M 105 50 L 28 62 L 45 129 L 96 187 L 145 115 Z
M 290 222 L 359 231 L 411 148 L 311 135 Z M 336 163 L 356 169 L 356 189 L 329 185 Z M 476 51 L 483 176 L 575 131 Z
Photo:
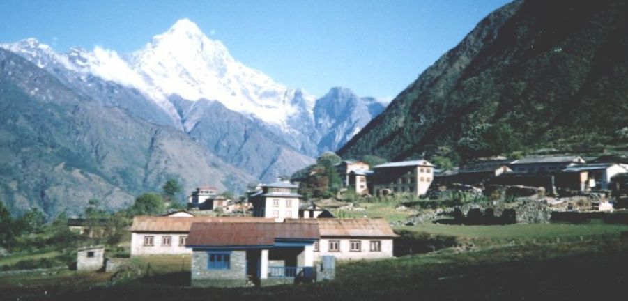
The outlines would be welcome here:
M 195 250 L 192 253 L 192 286 L 194 287 L 232 287 L 245 286 L 246 251 L 231 252 L 229 269 L 208 270 L 208 254 Z

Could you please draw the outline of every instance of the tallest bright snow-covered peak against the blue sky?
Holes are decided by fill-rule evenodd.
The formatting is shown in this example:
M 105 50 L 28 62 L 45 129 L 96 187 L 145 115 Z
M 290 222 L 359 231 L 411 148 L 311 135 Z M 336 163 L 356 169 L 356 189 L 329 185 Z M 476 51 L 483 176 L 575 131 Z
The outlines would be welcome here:
M 130 63 L 167 97 L 217 100 L 233 111 L 286 129 L 291 128 L 291 116 L 314 107 L 312 95 L 299 93 L 305 101 L 295 103 L 295 91 L 236 61 L 219 40 L 210 40 L 187 19 L 153 37 L 132 54 Z

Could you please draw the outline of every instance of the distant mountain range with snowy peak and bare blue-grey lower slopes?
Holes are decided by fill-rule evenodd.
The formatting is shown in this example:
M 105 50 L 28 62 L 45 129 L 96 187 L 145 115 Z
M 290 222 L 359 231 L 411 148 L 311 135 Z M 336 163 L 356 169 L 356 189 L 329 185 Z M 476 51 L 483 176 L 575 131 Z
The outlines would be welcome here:
M 316 99 L 278 84 L 187 19 L 131 54 L 2 44 L 0 68 L 0 198 L 14 213 L 79 213 L 90 198 L 115 208 L 167 178 L 241 192 L 311 164 L 384 109 L 346 88 Z

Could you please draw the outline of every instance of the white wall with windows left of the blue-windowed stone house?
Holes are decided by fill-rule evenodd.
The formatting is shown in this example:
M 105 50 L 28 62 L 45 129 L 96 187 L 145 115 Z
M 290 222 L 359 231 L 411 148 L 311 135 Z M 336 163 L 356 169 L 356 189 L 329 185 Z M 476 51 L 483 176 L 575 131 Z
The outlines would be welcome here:
M 144 245 L 144 236 L 153 236 L 153 246 Z M 162 236 L 170 236 L 171 244 L 162 245 Z M 192 249 L 179 245 L 179 238 L 187 233 L 131 233 L 131 256 L 192 254 Z

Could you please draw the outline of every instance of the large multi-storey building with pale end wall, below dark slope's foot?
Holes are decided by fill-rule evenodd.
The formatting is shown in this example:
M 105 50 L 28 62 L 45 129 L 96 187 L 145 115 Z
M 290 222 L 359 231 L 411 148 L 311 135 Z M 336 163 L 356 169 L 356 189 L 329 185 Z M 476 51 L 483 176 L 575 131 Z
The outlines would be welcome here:
M 377 196 L 406 192 L 425 194 L 434 180 L 434 164 L 427 160 L 390 162 L 373 168 L 373 190 Z

